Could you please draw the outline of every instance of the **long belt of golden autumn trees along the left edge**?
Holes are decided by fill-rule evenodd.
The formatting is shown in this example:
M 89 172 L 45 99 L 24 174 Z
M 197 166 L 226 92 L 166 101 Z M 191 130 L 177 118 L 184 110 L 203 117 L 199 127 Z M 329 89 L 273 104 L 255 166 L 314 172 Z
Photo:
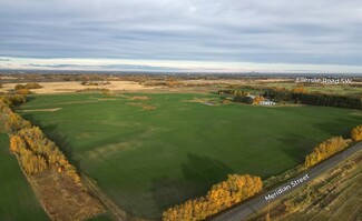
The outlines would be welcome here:
M 18 155 L 23 171 L 36 174 L 45 170 L 57 170 L 80 184 L 76 168 L 59 148 L 38 127 L 31 125 L 30 121 L 12 111 L 11 107 L 22 102 L 26 102 L 26 98 L 21 94 L 0 97 L 0 111 L 8 115 L 6 129 L 10 134 L 10 150 Z

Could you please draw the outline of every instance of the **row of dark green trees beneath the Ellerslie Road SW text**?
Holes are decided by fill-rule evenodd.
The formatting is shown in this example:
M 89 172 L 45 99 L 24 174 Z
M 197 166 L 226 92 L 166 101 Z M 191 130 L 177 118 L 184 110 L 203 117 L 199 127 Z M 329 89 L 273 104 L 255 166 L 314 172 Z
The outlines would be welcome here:
M 301 90 L 270 88 L 265 90 L 264 97 L 274 99 L 275 101 L 288 101 L 310 106 L 362 109 L 361 98 L 309 93 Z

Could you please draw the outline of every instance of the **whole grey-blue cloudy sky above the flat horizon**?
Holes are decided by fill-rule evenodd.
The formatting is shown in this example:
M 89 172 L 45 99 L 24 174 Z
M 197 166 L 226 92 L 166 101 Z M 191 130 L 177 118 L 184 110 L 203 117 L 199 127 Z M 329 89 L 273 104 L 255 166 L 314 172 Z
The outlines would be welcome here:
M 0 69 L 362 73 L 361 0 L 0 0 Z

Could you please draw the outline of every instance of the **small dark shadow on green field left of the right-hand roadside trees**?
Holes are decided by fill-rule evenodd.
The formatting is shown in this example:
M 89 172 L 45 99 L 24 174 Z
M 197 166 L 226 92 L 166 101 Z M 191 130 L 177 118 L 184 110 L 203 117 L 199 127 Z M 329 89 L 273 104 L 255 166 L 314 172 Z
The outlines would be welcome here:
M 287 133 L 280 140 L 284 143 L 283 151 L 299 163 L 304 161 L 305 155 L 309 154 L 317 143 L 316 140 L 306 139 L 295 133 Z

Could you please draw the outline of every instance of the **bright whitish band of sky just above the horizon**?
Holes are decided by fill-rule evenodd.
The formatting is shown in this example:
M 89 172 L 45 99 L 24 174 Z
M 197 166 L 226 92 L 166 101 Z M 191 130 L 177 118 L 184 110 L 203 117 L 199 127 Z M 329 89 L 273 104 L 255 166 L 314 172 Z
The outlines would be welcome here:
M 0 57 L 1 58 L 1 57 Z M 274 73 L 362 73 L 361 66 L 293 64 L 193 60 L 134 60 L 91 58 L 14 58 L 9 64 L 0 62 L 0 69 L 39 70 L 111 70 L 158 72 L 274 72 Z

